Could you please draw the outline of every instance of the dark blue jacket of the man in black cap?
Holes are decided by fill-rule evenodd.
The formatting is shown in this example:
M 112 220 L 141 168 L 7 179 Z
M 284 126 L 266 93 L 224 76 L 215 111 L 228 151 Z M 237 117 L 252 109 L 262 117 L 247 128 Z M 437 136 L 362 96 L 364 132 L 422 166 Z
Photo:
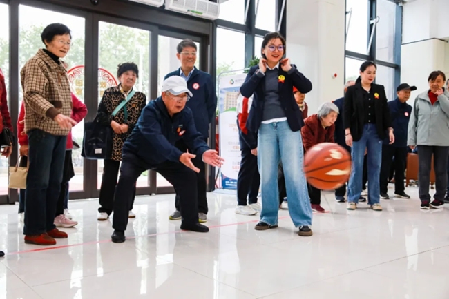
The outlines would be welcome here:
M 393 147 L 407 147 L 408 121 L 412 114 L 412 106 L 408 103 L 401 103 L 399 99 L 388 102 L 390 108 L 390 118 L 394 134 Z M 388 145 L 388 138 L 383 140 L 384 145 Z

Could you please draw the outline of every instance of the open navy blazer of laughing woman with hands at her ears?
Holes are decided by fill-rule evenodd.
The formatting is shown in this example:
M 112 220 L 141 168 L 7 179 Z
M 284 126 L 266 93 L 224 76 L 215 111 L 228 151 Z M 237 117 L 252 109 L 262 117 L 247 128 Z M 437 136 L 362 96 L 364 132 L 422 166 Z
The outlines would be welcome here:
M 249 98 L 254 94 L 247 120 L 247 128 L 251 132 L 259 131 L 265 102 L 265 76 L 260 76 L 260 74 L 256 73 L 258 69 L 258 65 L 250 68 L 245 83 L 240 87 L 240 92 L 243 96 Z M 295 65 L 292 65 L 292 70 L 288 74 L 279 65 L 278 78 L 280 78 L 278 90 L 279 99 L 285 110 L 287 122 L 292 131 L 299 131 L 303 127 L 304 121 L 303 114 L 300 112 L 293 95 L 293 87 L 307 94 L 307 92 L 312 90 L 312 83 L 296 69 Z

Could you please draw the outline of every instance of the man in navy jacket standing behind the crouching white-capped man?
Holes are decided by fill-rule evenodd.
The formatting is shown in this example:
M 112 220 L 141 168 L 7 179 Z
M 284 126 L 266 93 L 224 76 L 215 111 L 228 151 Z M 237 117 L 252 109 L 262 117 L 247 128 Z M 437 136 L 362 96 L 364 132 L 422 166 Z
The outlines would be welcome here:
M 181 76 L 187 81 L 187 86 L 190 92 L 193 94 L 187 107 L 189 107 L 193 113 L 193 120 L 195 121 L 195 127 L 198 132 L 202 134 L 203 141 L 207 143 L 209 137 L 209 124 L 215 119 L 217 109 L 217 96 L 215 86 L 212 82 L 212 77 L 207 72 L 202 72 L 195 68 L 196 44 L 191 39 L 184 39 L 181 41 L 177 48 L 176 56 L 181 62 L 181 67 L 170 74 L 165 76 L 165 79 L 171 76 Z M 182 152 L 187 152 L 189 147 L 184 141 L 180 140 L 175 145 Z M 207 221 L 207 196 L 206 196 L 206 167 L 201 161 L 200 157 L 193 159 L 193 165 L 200 169 L 198 172 L 198 218 L 200 222 Z M 176 210 L 171 214 L 171 220 L 178 220 L 181 218 L 180 213 L 180 197 L 177 192 L 175 199 Z

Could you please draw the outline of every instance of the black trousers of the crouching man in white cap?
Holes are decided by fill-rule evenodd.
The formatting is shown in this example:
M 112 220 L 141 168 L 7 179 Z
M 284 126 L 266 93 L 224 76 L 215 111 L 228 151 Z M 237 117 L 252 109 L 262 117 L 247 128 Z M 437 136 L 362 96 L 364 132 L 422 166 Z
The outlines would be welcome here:
M 133 205 L 133 187 L 142 172 L 150 169 L 141 158 L 131 153 L 124 153 L 122 166 L 120 167 L 120 178 L 117 183 L 114 198 L 113 228 L 125 231 L 128 225 L 128 211 Z M 173 187 L 180 197 L 180 212 L 183 223 L 198 223 L 198 196 L 196 194 L 197 175 L 193 170 L 182 163 L 164 162 L 153 170 L 160 173 Z

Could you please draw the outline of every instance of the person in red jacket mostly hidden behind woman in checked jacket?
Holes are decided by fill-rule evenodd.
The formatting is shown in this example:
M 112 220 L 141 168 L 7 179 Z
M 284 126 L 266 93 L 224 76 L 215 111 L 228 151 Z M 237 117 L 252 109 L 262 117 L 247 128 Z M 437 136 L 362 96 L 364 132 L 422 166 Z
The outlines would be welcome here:
M 72 94 L 72 115 L 70 116 L 74 121 L 79 123 L 86 117 L 87 108 L 82 101 Z M 28 156 L 28 136 L 23 131 L 24 124 L 23 119 L 25 118 L 25 109 L 23 107 L 23 101 L 21 103 L 19 119 L 17 120 L 17 132 L 21 132 L 19 134 L 19 145 L 20 145 L 20 155 L 23 157 Z M 73 149 L 73 141 L 72 141 L 72 132 L 68 133 L 67 143 L 66 143 L 66 156 L 64 158 L 64 170 L 63 177 L 61 182 L 61 192 L 59 192 L 59 198 L 57 201 L 56 207 L 56 215 L 55 215 L 55 225 L 57 227 L 74 227 L 78 223 L 76 221 L 72 221 L 70 214 L 68 213 L 68 209 L 66 207 L 66 193 L 68 191 L 68 181 L 70 178 L 75 176 L 75 172 L 73 170 L 72 163 L 72 149 Z M 23 162 L 24 161 L 24 162 Z M 26 159 L 22 158 L 21 164 L 26 165 Z M 19 196 L 19 213 L 21 213 L 21 219 L 23 219 L 24 212 L 24 203 L 25 200 L 25 190 L 20 190 Z

